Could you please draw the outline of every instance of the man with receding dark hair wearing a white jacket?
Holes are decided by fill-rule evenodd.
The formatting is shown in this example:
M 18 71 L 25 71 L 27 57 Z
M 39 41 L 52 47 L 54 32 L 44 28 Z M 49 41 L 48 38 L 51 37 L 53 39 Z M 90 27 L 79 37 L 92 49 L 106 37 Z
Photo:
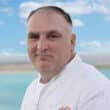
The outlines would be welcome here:
M 72 20 L 44 6 L 27 19 L 28 54 L 39 78 L 27 88 L 21 110 L 110 110 L 110 84 L 75 54 Z

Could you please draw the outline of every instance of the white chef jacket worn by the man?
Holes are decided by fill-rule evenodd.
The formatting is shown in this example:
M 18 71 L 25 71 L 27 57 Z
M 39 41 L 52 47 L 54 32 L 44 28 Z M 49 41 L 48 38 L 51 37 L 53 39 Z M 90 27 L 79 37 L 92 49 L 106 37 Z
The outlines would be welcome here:
M 110 110 L 110 82 L 78 55 L 47 84 L 40 78 L 26 90 L 20 110 Z

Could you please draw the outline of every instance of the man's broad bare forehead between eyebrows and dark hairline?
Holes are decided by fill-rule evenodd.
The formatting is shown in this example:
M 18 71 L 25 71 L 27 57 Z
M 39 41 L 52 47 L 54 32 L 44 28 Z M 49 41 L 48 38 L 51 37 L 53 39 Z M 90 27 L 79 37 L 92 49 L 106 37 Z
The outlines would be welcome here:
M 39 10 L 30 17 L 27 28 L 28 31 L 54 29 L 69 31 L 71 26 L 60 13 L 52 10 Z

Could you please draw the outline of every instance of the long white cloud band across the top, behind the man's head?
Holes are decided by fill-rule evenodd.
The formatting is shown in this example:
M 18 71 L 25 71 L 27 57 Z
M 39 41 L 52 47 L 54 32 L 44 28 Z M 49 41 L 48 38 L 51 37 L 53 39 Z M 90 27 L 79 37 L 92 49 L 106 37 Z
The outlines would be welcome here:
M 106 1 L 106 2 L 105 2 Z M 48 0 L 46 2 L 23 2 L 20 4 L 20 17 L 26 18 L 32 9 L 38 8 L 43 5 L 56 5 L 62 7 L 71 14 L 90 14 L 93 12 L 110 14 L 110 1 L 107 0 L 77 0 L 72 2 L 58 2 L 58 0 Z

